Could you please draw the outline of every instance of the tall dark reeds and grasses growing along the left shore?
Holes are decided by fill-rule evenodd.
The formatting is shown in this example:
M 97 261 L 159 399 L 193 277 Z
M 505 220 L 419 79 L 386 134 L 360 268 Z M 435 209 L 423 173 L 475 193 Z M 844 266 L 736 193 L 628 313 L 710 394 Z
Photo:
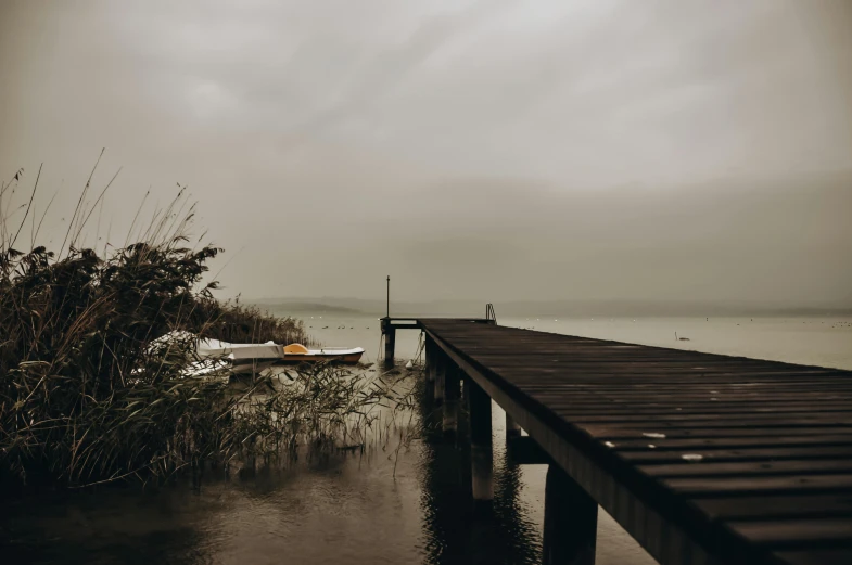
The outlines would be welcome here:
M 258 378 L 240 395 L 182 378 L 191 344 L 167 357 L 150 347 L 167 332 L 287 343 L 307 341 L 304 326 L 214 298 L 216 284 L 202 279 L 221 249 L 188 246 L 182 191 L 144 239 L 100 254 L 75 246 L 91 215 L 78 205 L 54 254 L 17 249 L 11 184 L 0 188 L 0 484 L 198 475 L 211 461 L 349 441 L 372 424 L 373 407 L 394 401 L 396 383 L 332 367 L 291 372 L 283 384 Z

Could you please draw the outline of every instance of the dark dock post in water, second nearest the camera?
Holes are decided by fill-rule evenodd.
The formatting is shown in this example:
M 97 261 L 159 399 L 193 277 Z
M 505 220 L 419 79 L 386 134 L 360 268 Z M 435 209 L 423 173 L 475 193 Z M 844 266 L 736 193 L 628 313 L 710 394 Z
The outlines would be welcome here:
M 491 397 L 480 385 L 465 381 L 470 411 L 470 475 L 474 502 L 494 500 L 494 452 L 492 449 Z

